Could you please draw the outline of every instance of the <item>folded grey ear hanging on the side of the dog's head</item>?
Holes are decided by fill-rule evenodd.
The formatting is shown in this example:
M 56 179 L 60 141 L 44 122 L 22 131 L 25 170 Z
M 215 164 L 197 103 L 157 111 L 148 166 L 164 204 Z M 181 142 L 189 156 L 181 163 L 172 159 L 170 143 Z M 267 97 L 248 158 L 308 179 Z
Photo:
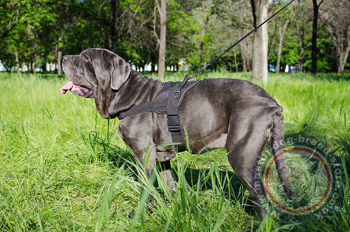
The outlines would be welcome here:
M 119 90 L 130 76 L 131 68 L 120 56 L 113 54 L 107 60 L 111 67 L 111 88 Z

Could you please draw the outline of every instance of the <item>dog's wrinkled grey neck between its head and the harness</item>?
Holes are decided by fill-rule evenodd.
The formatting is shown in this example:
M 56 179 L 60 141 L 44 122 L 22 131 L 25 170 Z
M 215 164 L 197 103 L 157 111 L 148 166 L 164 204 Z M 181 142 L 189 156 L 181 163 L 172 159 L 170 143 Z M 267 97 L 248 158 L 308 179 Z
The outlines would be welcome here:
M 134 104 L 151 102 L 162 88 L 163 83 L 141 76 L 132 70 L 129 79 L 116 92 L 111 93 L 111 101 L 116 102 L 109 107 L 111 117 L 116 117 L 122 111 L 130 109 Z

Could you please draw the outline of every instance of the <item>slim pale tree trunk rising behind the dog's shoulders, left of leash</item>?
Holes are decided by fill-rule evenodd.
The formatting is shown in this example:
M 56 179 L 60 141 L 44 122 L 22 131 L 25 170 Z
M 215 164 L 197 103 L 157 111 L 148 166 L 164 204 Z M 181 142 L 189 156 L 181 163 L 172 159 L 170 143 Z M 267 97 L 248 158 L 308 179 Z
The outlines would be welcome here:
M 159 60 L 158 60 L 158 79 L 162 81 L 165 74 L 165 49 L 167 36 L 167 1 L 155 0 L 160 15 L 160 39 L 159 39 Z

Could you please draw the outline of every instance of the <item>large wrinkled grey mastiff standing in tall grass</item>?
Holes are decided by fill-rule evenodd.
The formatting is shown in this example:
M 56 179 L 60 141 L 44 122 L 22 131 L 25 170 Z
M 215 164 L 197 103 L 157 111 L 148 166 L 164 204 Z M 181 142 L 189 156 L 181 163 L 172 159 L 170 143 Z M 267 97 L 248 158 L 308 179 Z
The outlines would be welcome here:
M 125 60 L 105 49 L 90 48 L 80 55 L 65 55 L 62 66 L 69 83 L 61 92 L 71 90 L 75 95 L 94 98 L 103 118 L 116 118 L 134 104 L 153 101 L 164 84 L 141 76 Z M 257 170 L 262 149 L 269 139 L 279 177 L 287 196 L 291 195 L 283 153 L 281 156 L 284 136 L 281 111 L 282 107 L 265 90 L 238 79 L 204 79 L 187 91 L 179 106 L 181 128 L 188 133 L 190 150 L 204 153 L 225 147 L 228 161 L 262 214 L 266 209 L 258 196 L 268 198 Z M 118 132 L 134 152 L 137 163 L 144 164 L 145 151 L 152 148 L 146 166 L 148 177 L 157 162 L 175 156 L 174 146 L 161 149 L 155 146 L 172 142 L 165 114 L 148 112 L 129 116 L 120 121 Z M 172 171 L 162 172 L 167 187 L 174 191 Z

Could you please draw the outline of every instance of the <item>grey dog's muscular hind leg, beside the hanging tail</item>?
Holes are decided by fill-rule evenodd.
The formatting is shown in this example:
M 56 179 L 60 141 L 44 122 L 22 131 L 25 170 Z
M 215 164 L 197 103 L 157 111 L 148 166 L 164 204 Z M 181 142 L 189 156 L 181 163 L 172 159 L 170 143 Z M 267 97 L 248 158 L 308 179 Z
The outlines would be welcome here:
M 267 210 L 258 196 L 264 196 L 267 200 L 267 192 L 260 177 L 258 161 L 267 142 L 267 137 L 264 126 L 252 124 L 248 130 L 241 131 L 243 136 L 239 136 L 237 128 L 229 128 L 225 148 L 228 152 L 228 161 L 256 204 L 256 211 L 265 215 Z

